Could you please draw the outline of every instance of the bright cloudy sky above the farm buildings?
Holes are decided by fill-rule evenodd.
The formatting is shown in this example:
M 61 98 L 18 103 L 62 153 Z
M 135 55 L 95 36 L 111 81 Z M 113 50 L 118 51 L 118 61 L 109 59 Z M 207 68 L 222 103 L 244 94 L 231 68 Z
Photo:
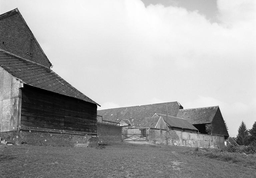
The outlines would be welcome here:
M 98 109 L 218 105 L 230 136 L 256 121 L 254 0 L 0 0 L 15 8 Z

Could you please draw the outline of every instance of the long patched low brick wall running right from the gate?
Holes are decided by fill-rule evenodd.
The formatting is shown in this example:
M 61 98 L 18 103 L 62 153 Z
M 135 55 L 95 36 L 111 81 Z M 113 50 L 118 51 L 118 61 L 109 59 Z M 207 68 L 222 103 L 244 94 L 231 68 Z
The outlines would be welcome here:
M 180 146 L 207 148 L 210 142 L 210 148 L 223 148 L 225 146 L 224 136 L 188 133 L 181 131 L 167 132 L 166 130 L 157 129 L 149 130 L 149 142 L 168 145 L 174 145 L 174 143 L 177 143 Z

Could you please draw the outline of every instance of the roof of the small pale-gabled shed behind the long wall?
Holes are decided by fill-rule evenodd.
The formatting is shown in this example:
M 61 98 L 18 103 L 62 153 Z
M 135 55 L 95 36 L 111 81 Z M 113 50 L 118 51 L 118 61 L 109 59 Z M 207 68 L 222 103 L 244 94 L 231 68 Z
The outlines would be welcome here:
M 170 127 L 177 127 L 177 128 L 182 128 L 182 129 L 191 129 L 191 130 L 198 131 L 198 129 L 195 128 L 186 119 L 181 119 L 181 118 L 177 118 L 177 117 L 173 117 L 173 116 L 167 116 L 167 121 L 166 121 L 166 115 L 163 115 L 163 114 L 156 114 L 156 115 L 162 116 L 164 122 L 167 123 L 168 126 L 170 126 Z

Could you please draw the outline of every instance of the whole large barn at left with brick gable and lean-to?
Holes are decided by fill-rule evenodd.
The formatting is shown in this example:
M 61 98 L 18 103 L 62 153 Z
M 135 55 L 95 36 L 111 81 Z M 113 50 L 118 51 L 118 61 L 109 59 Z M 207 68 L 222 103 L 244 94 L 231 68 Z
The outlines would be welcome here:
M 50 68 L 18 9 L 0 15 L 0 129 L 14 143 L 97 145 L 97 106 Z

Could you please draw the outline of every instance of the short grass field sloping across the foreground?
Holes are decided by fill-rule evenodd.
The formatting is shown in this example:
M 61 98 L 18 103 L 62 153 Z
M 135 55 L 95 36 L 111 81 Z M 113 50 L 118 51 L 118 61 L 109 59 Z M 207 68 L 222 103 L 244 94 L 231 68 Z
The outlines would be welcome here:
M 194 150 L 130 143 L 102 149 L 1 145 L 0 177 L 256 177 L 255 165 L 220 161 Z

